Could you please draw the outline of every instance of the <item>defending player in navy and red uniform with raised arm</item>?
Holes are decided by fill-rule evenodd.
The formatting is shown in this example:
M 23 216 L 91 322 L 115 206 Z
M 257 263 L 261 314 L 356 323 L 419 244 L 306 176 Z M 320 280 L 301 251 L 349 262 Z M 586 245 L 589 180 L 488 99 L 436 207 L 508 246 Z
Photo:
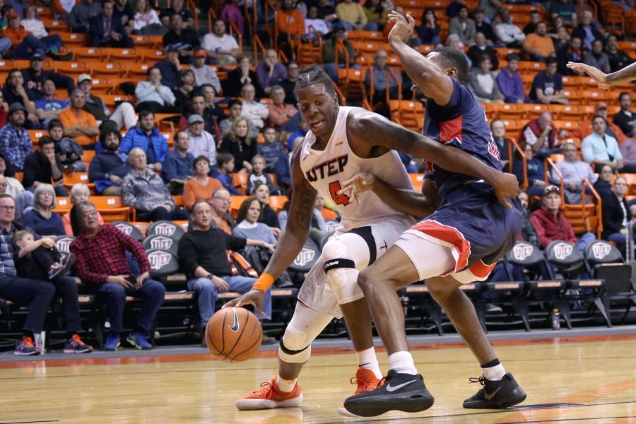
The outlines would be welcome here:
M 442 47 L 423 57 L 406 45 L 413 33 L 413 18 L 394 12 L 390 16 L 395 26 L 389 44 L 427 98 L 424 134 L 469 153 L 492 170 L 501 170 L 483 109 L 464 86 L 468 76 L 464 54 Z M 355 184 L 348 184 L 343 192 L 347 189 L 355 192 Z M 358 276 L 390 366 L 382 387 L 345 401 L 345 408 L 358 416 L 424 411 L 433 404 L 408 352 L 404 312 L 396 295 L 397 289 L 420 280 L 426 280 L 429 292 L 481 364 L 483 388 L 464 401 L 464 408 L 505 408 L 526 399 L 497 359 L 473 304 L 459 288 L 462 283 L 485 280 L 497 259 L 512 247 L 522 224 L 519 202 L 515 199 L 509 207 L 502 206 L 485 182 L 432 163 L 428 163 L 423 195 L 435 212 L 404 232 L 389 252 Z

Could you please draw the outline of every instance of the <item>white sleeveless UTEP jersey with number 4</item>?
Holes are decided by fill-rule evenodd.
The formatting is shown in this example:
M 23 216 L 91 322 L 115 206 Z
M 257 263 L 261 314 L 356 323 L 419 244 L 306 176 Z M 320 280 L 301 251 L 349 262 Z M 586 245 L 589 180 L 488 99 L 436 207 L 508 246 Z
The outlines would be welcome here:
M 307 133 L 300 146 L 300 169 L 319 194 L 334 201 L 342 216 L 338 230 L 343 232 L 375 223 L 387 216 L 404 215 L 371 191 L 360 193 L 360 203 L 347 196 L 338 196 L 336 193 L 341 189 L 341 183 L 353 177 L 356 172 L 369 172 L 384 179 L 392 187 L 413 190 L 411 179 L 396 151 L 368 159 L 359 158 L 351 151 L 346 124 L 352 109 L 353 107 L 340 107 L 334 132 L 324 151 L 312 149 L 316 142 L 312 131 Z

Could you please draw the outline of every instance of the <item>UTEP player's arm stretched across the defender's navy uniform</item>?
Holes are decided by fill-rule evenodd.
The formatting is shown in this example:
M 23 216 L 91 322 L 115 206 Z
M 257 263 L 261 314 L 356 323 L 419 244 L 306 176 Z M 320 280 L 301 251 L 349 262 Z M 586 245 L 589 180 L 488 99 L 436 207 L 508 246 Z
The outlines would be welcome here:
M 507 199 L 517 197 L 519 182 L 512 174 L 495 170 L 459 148 L 444 146 L 439 141 L 410 131 L 378 114 L 350 114 L 348 134 L 370 146 L 384 146 L 423 158 L 450 172 L 483 179 L 495 189 L 499 201 L 512 207 Z

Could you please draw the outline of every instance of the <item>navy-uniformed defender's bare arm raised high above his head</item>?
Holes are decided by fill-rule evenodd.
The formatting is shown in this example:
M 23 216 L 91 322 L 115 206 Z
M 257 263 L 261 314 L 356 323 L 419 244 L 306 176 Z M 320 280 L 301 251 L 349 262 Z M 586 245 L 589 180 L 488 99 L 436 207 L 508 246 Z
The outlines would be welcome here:
M 446 105 L 453 94 L 451 78 L 439 66 L 406 44 L 413 36 L 413 17 L 392 11 L 389 13 L 389 22 L 395 23 L 389 33 L 389 45 L 400 58 L 404 71 L 427 98 L 437 105 Z

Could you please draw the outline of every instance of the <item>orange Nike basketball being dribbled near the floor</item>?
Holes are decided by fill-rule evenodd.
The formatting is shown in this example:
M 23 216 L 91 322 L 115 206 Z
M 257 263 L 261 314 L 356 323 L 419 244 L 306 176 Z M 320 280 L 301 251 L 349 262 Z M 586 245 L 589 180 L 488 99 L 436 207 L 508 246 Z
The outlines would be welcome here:
M 239 362 L 252 358 L 261 346 L 263 329 L 257 317 L 244 307 L 226 307 L 213 314 L 206 326 L 206 345 L 221 360 Z

